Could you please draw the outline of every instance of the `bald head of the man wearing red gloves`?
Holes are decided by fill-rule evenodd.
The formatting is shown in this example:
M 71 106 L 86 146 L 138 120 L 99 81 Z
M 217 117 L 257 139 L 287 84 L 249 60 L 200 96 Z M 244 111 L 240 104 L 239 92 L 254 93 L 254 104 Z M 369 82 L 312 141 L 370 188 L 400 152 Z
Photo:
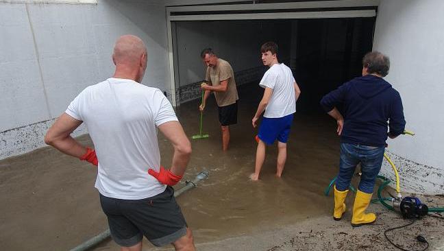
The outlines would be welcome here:
M 116 41 L 112 58 L 114 64 L 139 64 L 142 56 L 147 53 L 145 44 L 137 36 L 124 35 Z

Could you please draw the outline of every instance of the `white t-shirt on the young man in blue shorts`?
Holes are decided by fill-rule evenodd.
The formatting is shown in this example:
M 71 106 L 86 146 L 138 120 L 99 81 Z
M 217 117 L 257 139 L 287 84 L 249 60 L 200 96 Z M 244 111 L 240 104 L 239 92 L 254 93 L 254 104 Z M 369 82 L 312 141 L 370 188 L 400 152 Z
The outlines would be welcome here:
M 296 112 L 295 78 L 285 64 L 273 64 L 268 69 L 259 85 L 273 89 L 264 117 L 282 118 Z

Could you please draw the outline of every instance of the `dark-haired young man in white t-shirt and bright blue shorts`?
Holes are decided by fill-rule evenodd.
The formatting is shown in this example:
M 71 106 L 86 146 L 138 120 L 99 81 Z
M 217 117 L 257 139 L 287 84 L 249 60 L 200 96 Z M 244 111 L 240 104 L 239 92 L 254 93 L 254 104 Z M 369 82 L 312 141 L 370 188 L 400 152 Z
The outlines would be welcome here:
M 264 74 L 259 85 L 265 88 L 264 96 L 259 103 L 258 110 L 252 119 L 253 127 L 264 112 L 258 136 L 256 150 L 256 165 L 251 180 L 259 180 L 260 169 L 264 164 L 266 145 L 272 145 L 277 139 L 277 167 L 276 176 L 282 176 L 286 160 L 286 142 L 290 133 L 293 113 L 296 112 L 296 101 L 301 94 L 299 86 L 293 77 L 291 69 L 285 64 L 277 62 L 277 45 L 267 42 L 260 47 L 262 62 L 270 69 Z

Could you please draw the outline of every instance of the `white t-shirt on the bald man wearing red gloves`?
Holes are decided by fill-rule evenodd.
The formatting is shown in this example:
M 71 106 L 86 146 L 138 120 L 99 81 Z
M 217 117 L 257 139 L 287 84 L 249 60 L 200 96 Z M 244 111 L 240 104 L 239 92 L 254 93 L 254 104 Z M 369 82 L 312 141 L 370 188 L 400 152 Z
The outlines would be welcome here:
M 156 126 L 177 121 L 158 88 L 109 78 L 88 86 L 66 109 L 84 121 L 99 167 L 95 187 L 110 198 L 139 200 L 162 193 L 166 185 L 147 173 L 160 169 Z

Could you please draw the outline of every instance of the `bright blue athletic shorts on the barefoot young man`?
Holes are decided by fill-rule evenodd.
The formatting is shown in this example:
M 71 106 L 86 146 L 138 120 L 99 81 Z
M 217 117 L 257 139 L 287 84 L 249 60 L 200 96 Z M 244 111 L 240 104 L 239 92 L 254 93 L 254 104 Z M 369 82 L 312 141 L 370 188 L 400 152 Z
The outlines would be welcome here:
M 293 114 L 286 115 L 282 118 L 263 117 L 262 123 L 260 123 L 258 137 L 267 145 L 272 145 L 276 139 L 279 142 L 286 143 L 292 122 Z

